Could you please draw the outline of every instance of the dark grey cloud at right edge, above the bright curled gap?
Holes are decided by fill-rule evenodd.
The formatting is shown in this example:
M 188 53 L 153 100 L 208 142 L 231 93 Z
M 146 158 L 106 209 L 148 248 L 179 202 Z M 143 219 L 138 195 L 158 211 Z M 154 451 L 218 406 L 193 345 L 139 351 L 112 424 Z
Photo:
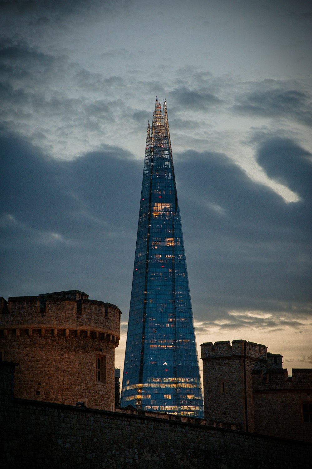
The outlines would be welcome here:
M 258 88 L 256 91 L 244 91 L 236 98 L 234 112 L 263 117 L 280 116 L 306 125 L 312 124 L 312 99 L 306 92 L 285 88 L 283 83 L 275 83 L 273 80 L 256 84 L 255 87 Z

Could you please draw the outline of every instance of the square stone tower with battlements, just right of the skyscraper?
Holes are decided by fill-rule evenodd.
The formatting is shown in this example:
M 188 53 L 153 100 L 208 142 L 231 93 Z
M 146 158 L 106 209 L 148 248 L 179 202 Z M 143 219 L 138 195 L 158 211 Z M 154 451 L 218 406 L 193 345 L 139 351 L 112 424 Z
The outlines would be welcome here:
M 246 340 L 201 345 L 205 418 L 254 431 L 252 370 L 262 369 L 267 347 Z

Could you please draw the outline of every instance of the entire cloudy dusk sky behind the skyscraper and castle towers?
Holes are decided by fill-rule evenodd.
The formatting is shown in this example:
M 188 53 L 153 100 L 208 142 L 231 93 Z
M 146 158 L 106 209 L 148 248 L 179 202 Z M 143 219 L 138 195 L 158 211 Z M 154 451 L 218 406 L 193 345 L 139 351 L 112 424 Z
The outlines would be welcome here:
M 157 96 L 197 346 L 311 368 L 311 3 L 1 0 L 0 31 L 0 296 L 116 304 L 123 369 Z

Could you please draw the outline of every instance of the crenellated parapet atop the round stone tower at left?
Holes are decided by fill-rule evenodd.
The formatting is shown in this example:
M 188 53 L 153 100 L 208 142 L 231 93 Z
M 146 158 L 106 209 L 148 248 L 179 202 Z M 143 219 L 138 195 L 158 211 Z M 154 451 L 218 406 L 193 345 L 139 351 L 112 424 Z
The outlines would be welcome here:
M 0 298 L 0 331 L 7 333 L 22 331 L 31 334 L 34 329 L 40 335 L 46 329 L 54 336 L 58 330 L 80 331 L 104 334 L 116 345 L 120 338 L 119 308 L 111 303 L 89 300 L 88 295 L 79 290 L 68 290 L 41 294 L 38 296 L 10 296 L 6 301 Z

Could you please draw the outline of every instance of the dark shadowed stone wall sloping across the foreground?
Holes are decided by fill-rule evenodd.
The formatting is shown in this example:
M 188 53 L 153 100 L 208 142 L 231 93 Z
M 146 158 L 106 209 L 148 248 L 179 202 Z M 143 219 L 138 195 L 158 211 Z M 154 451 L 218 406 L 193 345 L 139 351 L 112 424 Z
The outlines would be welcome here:
M 1 468 L 307 468 L 311 445 L 103 410 L 13 398 L 0 366 Z

